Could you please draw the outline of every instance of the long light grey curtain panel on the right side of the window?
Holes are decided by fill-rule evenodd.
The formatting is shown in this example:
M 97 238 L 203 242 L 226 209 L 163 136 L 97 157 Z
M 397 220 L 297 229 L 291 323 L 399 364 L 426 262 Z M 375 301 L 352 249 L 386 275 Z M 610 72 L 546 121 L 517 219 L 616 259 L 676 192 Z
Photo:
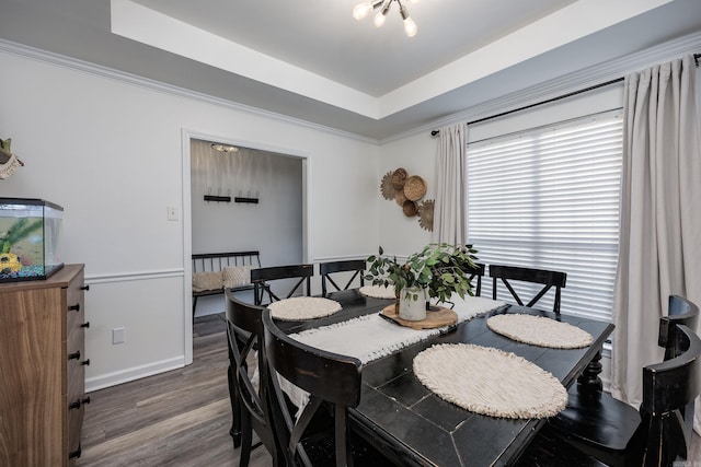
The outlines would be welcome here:
M 625 78 L 611 392 L 642 401 L 669 294 L 701 305 L 701 143 L 692 56 Z M 698 331 L 699 329 L 697 329 Z M 701 432 L 697 401 L 696 431 Z

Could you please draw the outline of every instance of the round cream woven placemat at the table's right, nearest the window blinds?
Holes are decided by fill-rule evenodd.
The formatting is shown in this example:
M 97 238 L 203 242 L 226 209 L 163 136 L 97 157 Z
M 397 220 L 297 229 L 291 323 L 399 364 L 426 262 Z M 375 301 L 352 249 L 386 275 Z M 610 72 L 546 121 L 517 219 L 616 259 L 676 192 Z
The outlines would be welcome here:
M 539 347 L 579 349 L 594 342 L 589 332 L 544 316 L 495 315 L 486 320 L 486 325 L 509 339 Z

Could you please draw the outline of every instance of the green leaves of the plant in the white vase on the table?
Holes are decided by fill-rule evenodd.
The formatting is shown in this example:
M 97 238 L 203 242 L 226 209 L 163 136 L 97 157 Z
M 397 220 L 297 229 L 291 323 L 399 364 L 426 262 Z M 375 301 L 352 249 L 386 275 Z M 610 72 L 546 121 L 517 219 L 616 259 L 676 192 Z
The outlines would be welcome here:
M 453 293 L 464 299 L 466 294 L 472 295 L 469 275 L 476 267 L 475 253 L 472 245 L 432 243 L 400 262 L 395 256 L 386 256 L 380 246 L 378 255 L 367 258 L 369 269 L 365 279 L 374 285 L 394 285 L 398 296 L 402 290 L 418 288 L 428 290 L 428 296 L 439 302 L 450 300 Z M 418 300 L 418 293 L 409 292 L 409 296 Z

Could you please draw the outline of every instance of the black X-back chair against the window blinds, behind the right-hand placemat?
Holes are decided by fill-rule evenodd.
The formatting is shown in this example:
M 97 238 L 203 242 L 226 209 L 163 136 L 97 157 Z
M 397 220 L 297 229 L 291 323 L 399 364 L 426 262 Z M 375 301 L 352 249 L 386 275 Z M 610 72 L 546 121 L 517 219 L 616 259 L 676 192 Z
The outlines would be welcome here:
M 531 307 L 538 303 L 540 299 L 551 289 L 555 288 L 555 297 L 552 311 L 560 315 L 560 296 L 561 290 L 564 289 L 567 281 L 567 273 L 560 271 L 551 271 L 547 269 L 521 268 L 518 266 L 490 265 L 490 277 L 493 278 L 492 299 L 496 300 L 498 280 L 501 280 L 512 296 L 521 306 Z M 524 305 L 524 301 L 512 285 L 510 281 L 530 282 L 543 285 L 542 289 Z

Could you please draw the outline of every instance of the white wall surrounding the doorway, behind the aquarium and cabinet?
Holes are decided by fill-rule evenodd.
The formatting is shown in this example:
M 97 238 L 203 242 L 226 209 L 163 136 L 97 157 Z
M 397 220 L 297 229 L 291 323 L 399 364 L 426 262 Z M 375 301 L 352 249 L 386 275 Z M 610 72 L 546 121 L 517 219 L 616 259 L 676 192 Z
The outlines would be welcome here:
M 376 249 L 376 144 L 20 47 L 2 46 L 0 58 L 0 137 L 25 163 L 0 196 L 65 208 L 62 259 L 84 262 L 90 284 L 89 389 L 192 355 L 184 133 L 306 156 L 306 260 Z M 125 343 L 112 345 L 115 327 Z

